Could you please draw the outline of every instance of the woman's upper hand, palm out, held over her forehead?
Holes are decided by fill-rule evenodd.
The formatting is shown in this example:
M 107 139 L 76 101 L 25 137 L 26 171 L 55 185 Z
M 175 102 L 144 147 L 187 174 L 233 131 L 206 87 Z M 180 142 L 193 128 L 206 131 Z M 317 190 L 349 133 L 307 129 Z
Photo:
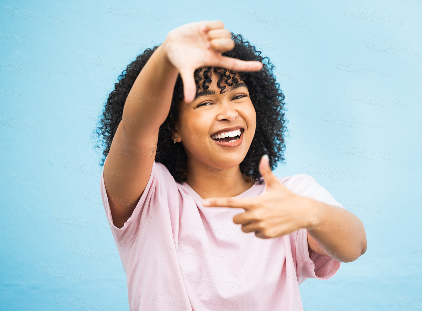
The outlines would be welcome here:
M 193 22 L 171 30 L 161 47 L 183 80 L 184 100 L 192 102 L 196 94 L 194 71 L 210 66 L 235 71 L 256 71 L 262 68 L 257 61 L 243 61 L 221 54 L 234 48 L 231 32 L 224 23 L 215 21 Z

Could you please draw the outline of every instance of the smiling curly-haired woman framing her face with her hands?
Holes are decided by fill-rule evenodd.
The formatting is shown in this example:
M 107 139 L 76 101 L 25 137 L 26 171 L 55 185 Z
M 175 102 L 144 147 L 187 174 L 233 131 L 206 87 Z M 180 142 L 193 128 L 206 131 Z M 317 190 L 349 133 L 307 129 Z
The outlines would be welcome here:
M 101 195 L 131 310 L 299 310 L 300 283 L 365 252 L 314 178 L 271 172 L 284 95 L 260 54 L 219 20 L 189 23 L 108 97 Z

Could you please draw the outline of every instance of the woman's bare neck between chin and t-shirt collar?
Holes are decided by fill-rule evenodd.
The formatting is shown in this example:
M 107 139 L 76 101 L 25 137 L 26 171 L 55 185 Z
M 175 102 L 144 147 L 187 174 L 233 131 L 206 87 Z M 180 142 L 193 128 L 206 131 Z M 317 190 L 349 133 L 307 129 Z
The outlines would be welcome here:
M 235 197 L 254 185 L 242 176 L 239 165 L 217 168 L 190 159 L 187 166 L 186 183 L 204 200 Z

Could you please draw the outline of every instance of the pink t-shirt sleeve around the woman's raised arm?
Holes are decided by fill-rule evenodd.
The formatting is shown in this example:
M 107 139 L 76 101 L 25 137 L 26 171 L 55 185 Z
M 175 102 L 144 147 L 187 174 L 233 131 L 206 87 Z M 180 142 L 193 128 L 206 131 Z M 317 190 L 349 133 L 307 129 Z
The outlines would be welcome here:
M 107 159 L 106 159 L 107 160 Z M 129 201 L 125 201 L 123 198 L 111 198 L 106 192 L 106 187 L 104 184 L 104 167 L 101 172 L 101 197 L 103 199 L 104 210 L 106 211 L 106 216 L 108 223 L 110 224 L 111 232 L 114 236 L 114 241 L 117 245 L 122 245 L 133 241 L 138 233 L 145 227 L 149 222 L 149 219 L 157 211 L 158 206 L 166 196 L 165 192 L 165 174 L 163 174 L 161 163 L 154 161 L 151 169 L 151 175 L 149 176 L 148 183 L 139 199 L 139 202 L 136 204 L 133 209 L 132 215 L 127 219 L 122 228 L 118 228 L 113 223 L 113 218 L 111 217 L 110 202 L 127 204 L 127 206 L 133 205 Z M 106 172 L 107 173 L 107 172 Z M 110 172 L 116 173 L 116 171 Z M 118 173 L 118 172 L 117 172 Z M 124 175 L 122 174 L 122 178 Z

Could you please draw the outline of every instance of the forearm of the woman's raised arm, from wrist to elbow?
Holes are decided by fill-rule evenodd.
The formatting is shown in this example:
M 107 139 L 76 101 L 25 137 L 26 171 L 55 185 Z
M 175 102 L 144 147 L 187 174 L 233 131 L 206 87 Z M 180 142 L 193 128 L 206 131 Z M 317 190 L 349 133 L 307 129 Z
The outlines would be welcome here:
M 131 140 L 152 135 L 167 118 L 178 76 L 169 62 L 164 41 L 138 74 L 124 103 L 122 128 Z

